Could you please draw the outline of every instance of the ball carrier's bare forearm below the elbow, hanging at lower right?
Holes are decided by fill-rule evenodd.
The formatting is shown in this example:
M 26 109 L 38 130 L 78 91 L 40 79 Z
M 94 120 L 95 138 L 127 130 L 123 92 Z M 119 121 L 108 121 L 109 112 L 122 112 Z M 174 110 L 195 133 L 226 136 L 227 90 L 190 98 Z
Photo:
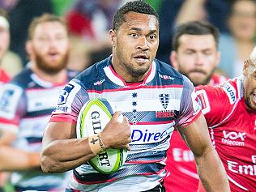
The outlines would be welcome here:
M 198 175 L 207 191 L 230 191 L 224 166 L 214 149 L 207 151 L 203 156 L 195 157 L 195 160 Z

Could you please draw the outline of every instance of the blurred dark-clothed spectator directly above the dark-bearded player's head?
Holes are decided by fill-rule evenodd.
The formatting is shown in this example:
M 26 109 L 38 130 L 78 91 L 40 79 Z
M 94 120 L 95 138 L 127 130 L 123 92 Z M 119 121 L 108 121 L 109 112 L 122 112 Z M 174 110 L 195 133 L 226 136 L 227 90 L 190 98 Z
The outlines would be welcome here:
M 163 0 L 160 8 L 160 48 L 156 58 L 169 63 L 173 32 L 177 24 L 207 20 L 220 32 L 227 32 L 229 0 Z

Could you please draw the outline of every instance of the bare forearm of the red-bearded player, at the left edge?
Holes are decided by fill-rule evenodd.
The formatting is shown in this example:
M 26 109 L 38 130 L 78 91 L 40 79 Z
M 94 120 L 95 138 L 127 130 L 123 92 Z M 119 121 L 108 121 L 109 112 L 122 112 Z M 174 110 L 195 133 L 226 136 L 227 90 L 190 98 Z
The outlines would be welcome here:
M 14 147 L 0 147 L 0 171 L 19 171 L 40 168 L 39 153 Z

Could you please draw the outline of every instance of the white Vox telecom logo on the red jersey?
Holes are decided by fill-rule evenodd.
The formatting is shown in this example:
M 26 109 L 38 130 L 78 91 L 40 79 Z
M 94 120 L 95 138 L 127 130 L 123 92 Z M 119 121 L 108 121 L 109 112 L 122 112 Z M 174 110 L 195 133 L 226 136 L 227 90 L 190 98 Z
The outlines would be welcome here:
M 231 131 L 227 132 L 226 130 L 223 131 L 224 138 L 221 139 L 222 143 L 234 146 L 244 146 L 245 145 L 245 132 L 236 132 Z

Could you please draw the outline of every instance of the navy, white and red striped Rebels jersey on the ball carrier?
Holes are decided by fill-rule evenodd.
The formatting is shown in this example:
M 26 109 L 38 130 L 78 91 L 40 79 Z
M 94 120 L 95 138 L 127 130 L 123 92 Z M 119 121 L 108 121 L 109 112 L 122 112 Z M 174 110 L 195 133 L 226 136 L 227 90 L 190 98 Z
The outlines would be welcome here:
M 96 172 L 86 162 L 74 170 L 75 191 L 142 191 L 159 185 L 166 171 L 166 150 L 173 126 L 187 126 L 201 111 L 193 84 L 173 67 L 155 60 L 140 83 L 126 83 L 111 66 L 98 62 L 62 90 L 51 122 L 77 122 L 80 109 L 92 98 L 105 98 L 130 122 L 131 151 L 116 173 Z

